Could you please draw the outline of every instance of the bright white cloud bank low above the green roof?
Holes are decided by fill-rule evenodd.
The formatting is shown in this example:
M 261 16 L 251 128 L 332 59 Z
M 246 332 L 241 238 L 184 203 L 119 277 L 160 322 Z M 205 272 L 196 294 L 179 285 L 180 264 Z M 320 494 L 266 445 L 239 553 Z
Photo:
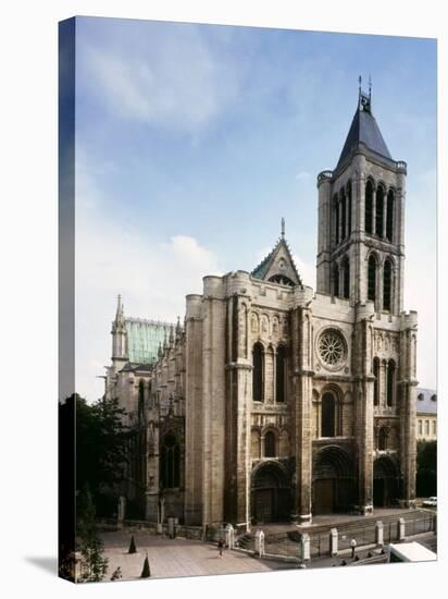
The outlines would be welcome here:
M 187 235 L 155 243 L 112 221 L 102 209 L 95 179 L 77 170 L 76 213 L 76 388 L 89 401 L 103 392 L 110 363 L 111 321 L 116 295 L 126 316 L 175 322 L 185 295 L 202 292 L 204 274 L 220 274 L 212 252 Z

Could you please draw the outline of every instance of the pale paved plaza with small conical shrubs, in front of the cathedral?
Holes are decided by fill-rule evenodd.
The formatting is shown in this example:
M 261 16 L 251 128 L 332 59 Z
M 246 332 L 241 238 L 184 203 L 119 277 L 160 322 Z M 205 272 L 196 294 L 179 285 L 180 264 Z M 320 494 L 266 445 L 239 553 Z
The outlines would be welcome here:
M 139 578 L 148 552 L 152 578 L 176 576 L 206 576 L 211 574 L 244 574 L 290 570 L 294 564 L 276 560 L 258 560 L 240 551 L 224 551 L 219 557 L 216 545 L 188 539 L 167 539 L 146 533 L 135 533 L 137 553 L 127 553 L 130 533 L 103 533 L 104 557 L 108 558 L 109 580 L 120 566 L 123 579 Z

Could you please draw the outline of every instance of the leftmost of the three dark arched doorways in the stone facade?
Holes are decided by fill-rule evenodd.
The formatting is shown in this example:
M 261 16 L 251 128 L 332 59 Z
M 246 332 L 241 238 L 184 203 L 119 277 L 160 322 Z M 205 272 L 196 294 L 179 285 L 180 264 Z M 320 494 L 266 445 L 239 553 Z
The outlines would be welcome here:
M 289 518 L 290 491 L 283 469 L 273 463 L 252 473 L 251 514 L 256 524 Z

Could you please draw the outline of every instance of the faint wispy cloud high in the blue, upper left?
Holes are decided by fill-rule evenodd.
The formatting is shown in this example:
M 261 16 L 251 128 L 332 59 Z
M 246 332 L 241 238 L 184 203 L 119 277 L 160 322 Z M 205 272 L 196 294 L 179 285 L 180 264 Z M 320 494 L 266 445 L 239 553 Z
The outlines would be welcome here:
M 238 71 L 217 62 L 192 27 L 127 41 L 125 52 L 99 42 L 79 49 L 79 76 L 113 117 L 197 133 L 237 96 Z

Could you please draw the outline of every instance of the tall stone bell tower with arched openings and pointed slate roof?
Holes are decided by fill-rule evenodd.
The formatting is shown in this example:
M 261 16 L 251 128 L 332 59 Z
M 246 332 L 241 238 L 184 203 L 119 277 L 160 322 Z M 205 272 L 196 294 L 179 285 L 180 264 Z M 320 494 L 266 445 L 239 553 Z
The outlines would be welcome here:
M 319 293 L 376 313 L 402 310 L 407 164 L 391 158 L 359 80 L 358 107 L 334 171 L 318 176 Z

